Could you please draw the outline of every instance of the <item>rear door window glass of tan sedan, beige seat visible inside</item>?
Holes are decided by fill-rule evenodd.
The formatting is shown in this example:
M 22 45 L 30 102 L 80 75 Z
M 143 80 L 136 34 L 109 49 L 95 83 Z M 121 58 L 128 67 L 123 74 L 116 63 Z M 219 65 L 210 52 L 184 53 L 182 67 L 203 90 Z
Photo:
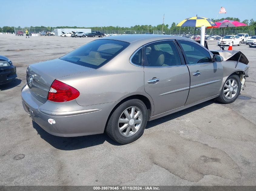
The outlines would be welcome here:
M 145 46 L 145 66 L 164 67 L 179 66 L 181 59 L 174 41 L 162 41 Z

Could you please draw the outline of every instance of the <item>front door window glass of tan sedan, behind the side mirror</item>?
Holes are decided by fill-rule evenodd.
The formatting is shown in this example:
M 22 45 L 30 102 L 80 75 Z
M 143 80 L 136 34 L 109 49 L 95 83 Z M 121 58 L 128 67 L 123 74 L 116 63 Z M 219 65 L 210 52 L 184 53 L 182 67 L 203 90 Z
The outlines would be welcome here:
M 212 62 L 210 53 L 199 44 L 179 40 L 181 48 L 187 57 L 188 64 Z

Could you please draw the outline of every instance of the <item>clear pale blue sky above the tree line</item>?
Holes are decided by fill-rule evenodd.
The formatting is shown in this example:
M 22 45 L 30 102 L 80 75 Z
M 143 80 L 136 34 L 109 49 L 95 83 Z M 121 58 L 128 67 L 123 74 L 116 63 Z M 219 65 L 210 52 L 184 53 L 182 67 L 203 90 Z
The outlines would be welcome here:
M 216 18 L 221 6 L 227 13 L 218 18 L 256 19 L 255 0 L 4 0 L 0 27 L 157 25 L 162 23 L 164 13 L 165 24 L 170 26 L 172 22 L 178 23 L 196 14 Z

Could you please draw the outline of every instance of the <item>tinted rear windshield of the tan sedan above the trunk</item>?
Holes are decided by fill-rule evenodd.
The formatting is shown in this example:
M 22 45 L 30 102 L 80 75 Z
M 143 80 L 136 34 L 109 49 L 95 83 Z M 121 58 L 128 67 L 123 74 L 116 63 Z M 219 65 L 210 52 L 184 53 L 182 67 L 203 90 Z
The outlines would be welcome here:
M 60 59 L 97 69 L 118 55 L 129 44 L 118 40 L 94 40 L 60 57 Z

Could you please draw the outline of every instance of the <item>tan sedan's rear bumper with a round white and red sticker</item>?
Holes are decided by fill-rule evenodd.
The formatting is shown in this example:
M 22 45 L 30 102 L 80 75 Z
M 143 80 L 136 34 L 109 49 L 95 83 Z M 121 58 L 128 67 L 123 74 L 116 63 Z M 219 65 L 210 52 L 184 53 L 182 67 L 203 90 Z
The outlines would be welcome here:
M 108 116 L 117 104 L 112 102 L 92 106 L 79 106 L 74 100 L 74 103 L 77 104 L 76 109 L 80 107 L 81 110 L 48 111 L 45 110 L 43 105 L 48 102 L 47 108 L 49 108 L 49 105 L 56 105 L 56 103 L 38 101 L 32 96 L 27 85 L 22 89 L 21 95 L 24 110 L 31 116 L 32 120 L 46 132 L 60 137 L 77 137 L 103 133 Z

